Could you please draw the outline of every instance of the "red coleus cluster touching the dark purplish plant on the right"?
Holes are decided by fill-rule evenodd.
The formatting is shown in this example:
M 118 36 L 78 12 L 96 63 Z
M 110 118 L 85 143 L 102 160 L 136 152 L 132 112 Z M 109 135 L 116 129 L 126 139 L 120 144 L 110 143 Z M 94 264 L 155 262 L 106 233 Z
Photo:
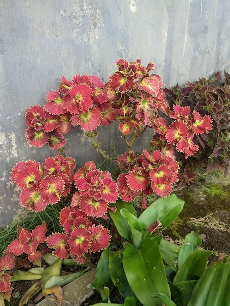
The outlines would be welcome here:
M 195 110 L 191 113 L 190 107 L 180 105 L 173 105 L 169 116 L 173 119 L 169 126 L 164 118 L 154 120 L 153 130 L 160 134 L 161 145 L 175 145 L 178 152 L 185 154 L 185 158 L 194 155 L 199 146 L 193 142 L 193 138 L 195 134 L 200 135 L 212 130 L 211 117 L 202 117 Z

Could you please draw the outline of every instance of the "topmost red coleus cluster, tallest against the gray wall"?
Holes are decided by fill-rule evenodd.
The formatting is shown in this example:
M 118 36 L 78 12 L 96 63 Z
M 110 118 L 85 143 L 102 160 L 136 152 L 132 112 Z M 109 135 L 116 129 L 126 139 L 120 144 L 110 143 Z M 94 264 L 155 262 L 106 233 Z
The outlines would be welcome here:
M 120 122 L 122 134 L 142 131 L 146 126 L 151 126 L 159 116 L 159 110 L 168 113 L 168 103 L 161 88 L 162 80 L 159 75 L 150 75 L 150 71 L 155 69 L 154 64 L 149 63 L 144 67 L 140 60 L 127 62 L 119 59 L 116 66 L 118 71 L 109 77 L 106 84 L 106 97 L 118 110 L 116 121 Z

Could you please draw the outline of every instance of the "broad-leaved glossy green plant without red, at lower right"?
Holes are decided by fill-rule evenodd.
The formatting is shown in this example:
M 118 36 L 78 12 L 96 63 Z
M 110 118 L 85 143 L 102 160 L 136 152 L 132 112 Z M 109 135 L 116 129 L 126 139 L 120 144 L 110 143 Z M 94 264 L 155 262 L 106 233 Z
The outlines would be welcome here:
M 117 211 L 110 212 L 127 242 L 122 250 L 103 251 L 92 287 L 104 303 L 94 306 L 229 306 L 230 256 L 220 254 L 207 266 L 209 257 L 218 254 L 201 248 L 197 232 L 187 234 L 181 247 L 161 236 L 183 206 L 171 195 L 153 202 L 139 217 L 131 203 L 119 202 Z M 123 304 L 110 303 L 111 281 Z

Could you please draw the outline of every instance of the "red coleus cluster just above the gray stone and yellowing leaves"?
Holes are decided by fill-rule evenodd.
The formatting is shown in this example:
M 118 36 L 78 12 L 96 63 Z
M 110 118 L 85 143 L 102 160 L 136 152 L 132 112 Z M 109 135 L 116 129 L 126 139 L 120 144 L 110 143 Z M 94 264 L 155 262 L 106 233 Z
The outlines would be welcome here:
M 70 255 L 76 262 L 84 263 L 88 253 L 103 250 L 109 245 L 109 230 L 102 225 L 95 226 L 79 209 L 65 207 L 59 219 L 65 233 L 53 233 L 46 240 L 48 247 L 54 249 L 56 258 L 62 260 Z

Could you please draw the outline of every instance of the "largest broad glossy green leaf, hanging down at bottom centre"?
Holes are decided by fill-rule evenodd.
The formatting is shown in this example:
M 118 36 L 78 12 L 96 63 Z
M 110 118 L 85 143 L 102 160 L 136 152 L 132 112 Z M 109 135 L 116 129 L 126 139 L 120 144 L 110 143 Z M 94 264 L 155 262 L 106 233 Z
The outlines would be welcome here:
M 150 296 L 154 293 L 170 297 L 159 247 L 153 240 L 145 240 L 139 249 L 127 245 L 123 253 L 123 267 L 134 294 L 144 306 L 152 305 Z

